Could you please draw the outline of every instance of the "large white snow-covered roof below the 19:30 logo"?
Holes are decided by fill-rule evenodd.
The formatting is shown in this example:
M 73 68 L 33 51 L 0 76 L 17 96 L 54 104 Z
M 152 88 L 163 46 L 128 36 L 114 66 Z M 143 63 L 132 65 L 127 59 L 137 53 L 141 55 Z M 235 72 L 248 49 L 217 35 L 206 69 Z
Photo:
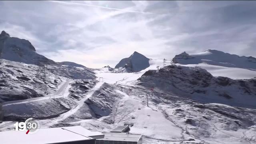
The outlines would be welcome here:
M 90 136 L 101 136 L 100 132 L 90 132 L 81 126 L 70 126 L 62 128 L 42 128 L 35 134 L 26 134 L 25 131 L 0 132 L 2 144 L 49 144 L 60 142 L 72 142 L 81 140 L 92 140 Z

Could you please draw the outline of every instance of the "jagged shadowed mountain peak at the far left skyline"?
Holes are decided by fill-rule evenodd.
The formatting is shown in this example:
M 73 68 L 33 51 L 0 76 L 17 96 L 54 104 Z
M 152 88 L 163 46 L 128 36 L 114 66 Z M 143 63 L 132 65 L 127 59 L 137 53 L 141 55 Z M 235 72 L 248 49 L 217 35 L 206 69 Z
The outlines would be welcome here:
M 0 34 L 0 58 L 26 64 L 56 64 L 36 53 L 36 49 L 28 40 L 11 37 L 5 31 Z

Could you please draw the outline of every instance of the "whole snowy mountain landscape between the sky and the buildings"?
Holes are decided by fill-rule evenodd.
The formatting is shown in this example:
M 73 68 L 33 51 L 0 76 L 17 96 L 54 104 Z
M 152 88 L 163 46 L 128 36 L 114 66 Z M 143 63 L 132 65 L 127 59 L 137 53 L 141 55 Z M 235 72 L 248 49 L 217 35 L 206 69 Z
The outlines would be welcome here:
M 4 31 L 0 42 L 1 131 L 33 117 L 41 128 L 98 132 L 132 122 L 144 144 L 256 143 L 253 57 L 183 52 L 162 66 L 134 52 L 114 69 L 92 69 L 54 62 Z

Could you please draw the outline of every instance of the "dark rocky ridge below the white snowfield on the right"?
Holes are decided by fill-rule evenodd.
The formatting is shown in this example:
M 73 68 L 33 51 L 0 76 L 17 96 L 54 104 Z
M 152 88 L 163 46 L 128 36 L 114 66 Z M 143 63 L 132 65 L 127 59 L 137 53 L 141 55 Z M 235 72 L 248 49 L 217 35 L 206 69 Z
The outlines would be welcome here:
M 202 68 L 170 65 L 148 70 L 138 80 L 140 85 L 155 87 L 166 92 L 203 102 L 218 102 L 236 106 L 256 106 L 256 78 L 233 80 L 214 77 Z

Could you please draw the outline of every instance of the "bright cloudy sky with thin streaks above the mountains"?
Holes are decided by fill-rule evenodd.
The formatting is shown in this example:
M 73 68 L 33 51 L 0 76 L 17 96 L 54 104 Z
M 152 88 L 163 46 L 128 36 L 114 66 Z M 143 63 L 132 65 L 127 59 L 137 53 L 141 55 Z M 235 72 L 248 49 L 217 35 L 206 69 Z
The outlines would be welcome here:
M 256 1 L 0 1 L 0 30 L 52 60 L 91 68 L 114 67 L 134 51 L 256 57 Z

